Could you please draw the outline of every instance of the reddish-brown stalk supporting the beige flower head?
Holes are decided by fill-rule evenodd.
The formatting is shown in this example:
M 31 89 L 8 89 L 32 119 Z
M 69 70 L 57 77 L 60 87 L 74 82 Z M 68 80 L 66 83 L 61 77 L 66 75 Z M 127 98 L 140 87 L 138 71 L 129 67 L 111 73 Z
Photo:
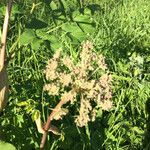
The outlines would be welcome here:
M 42 137 L 42 140 L 41 140 L 41 144 L 40 144 L 40 149 L 43 150 L 44 149 L 44 146 L 45 146 L 45 142 L 46 142 L 46 137 L 47 137 L 47 134 L 48 134 L 48 130 L 51 126 L 51 121 L 53 120 L 53 117 L 55 116 L 55 114 L 60 110 L 60 108 L 63 106 L 63 104 L 65 104 L 66 101 L 64 100 L 61 100 L 57 105 L 56 107 L 53 109 L 53 111 L 51 112 L 51 114 L 49 115 L 48 119 L 47 119 L 47 122 L 46 122 L 46 125 L 44 126 L 44 134 L 43 134 L 43 137 Z

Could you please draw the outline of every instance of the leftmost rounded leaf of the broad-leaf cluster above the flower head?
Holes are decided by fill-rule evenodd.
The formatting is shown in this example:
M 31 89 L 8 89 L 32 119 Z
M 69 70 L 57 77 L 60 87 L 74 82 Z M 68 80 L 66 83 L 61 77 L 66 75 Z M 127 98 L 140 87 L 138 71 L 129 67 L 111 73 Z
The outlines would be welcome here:
M 28 45 L 34 40 L 34 38 L 36 38 L 34 31 L 27 29 L 20 36 L 20 45 Z

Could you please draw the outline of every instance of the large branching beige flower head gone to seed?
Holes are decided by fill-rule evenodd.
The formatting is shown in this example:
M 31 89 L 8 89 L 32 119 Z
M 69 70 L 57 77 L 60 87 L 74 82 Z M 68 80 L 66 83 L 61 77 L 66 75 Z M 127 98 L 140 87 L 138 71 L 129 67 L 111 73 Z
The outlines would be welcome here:
M 57 50 L 44 72 L 49 81 L 44 90 L 61 99 L 51 120 L 62 119 L 69 112 L 63 108 L 66 103 L 79 106 L 76 107 L 75 123 L 80 127 L 95 120 L 98 108 L 112 108 L 112 78 L 105 58 L 93 51 L 90 41 L 82 44 L 77 61 L 70 56 L 62 56 L 61 49 Z

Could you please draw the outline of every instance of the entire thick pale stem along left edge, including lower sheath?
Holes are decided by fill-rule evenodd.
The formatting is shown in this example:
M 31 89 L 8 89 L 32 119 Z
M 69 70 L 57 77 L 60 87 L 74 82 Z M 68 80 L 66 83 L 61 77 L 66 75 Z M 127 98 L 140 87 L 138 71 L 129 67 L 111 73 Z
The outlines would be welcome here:
M 5 107 L 8 97 L 8 77 L 5 65 L 5 53 L 6 53 L 6 38 L 8 31 L 9 18 L 11 14 L 13 0 L 10 0 L 6 6 L 6 14 L 3 24 L 3 32 L 1 38 L 1 50 L 0 50 L 0 111 Z

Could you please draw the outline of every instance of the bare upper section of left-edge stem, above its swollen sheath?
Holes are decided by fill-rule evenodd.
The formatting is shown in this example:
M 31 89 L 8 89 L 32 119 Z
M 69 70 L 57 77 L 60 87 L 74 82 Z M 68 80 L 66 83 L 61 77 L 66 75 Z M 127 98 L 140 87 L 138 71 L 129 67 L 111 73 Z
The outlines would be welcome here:
M 4 67 L 4 62 L 5 62 L 6 38 L 7 38 L 8 23 L 11 14 L 12 3 L 13 0 L 9 0 L 6 7 L 6 14 L 5 14 L 5 19 L 3 24 L 3 33 L 1 38 L 2 48 L 0 50 L 0 70 Z

